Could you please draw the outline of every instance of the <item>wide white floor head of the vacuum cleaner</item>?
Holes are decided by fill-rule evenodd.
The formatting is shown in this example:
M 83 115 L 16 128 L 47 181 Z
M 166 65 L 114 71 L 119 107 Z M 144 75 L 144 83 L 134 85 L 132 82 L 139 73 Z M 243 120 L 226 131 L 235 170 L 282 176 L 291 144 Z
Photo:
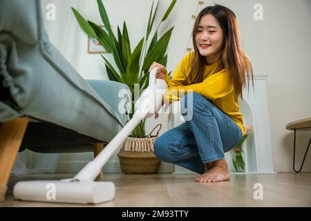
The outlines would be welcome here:
M 22 181 L 15 185 L 13 195 L 24 201 L 97 204 L 113 200 L 115 185 L 93 181 Z

